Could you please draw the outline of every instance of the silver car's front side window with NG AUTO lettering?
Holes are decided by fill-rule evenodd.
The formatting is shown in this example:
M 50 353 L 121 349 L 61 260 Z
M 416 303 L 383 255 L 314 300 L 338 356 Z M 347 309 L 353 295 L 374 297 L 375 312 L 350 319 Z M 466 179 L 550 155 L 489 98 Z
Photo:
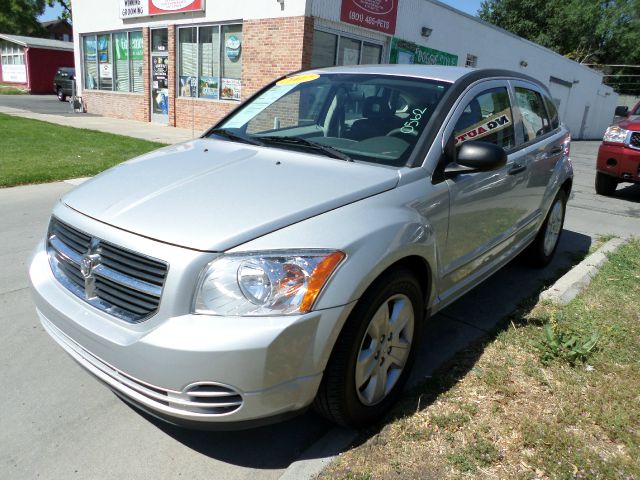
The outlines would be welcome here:
M 485 90 L 464 108 L 454 130 L 455 145 L 481 140 L 505 150 L 515 146 L 513 113 L 505 87 Z

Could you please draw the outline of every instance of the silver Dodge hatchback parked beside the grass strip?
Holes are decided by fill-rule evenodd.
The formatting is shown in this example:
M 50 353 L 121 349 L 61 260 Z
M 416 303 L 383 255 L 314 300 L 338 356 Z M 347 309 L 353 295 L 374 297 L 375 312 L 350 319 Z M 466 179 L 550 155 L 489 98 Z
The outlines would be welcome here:
M 547 89 L 514 72 L 292 74 L 65 195 L 30 265 L 37 312 L 168 422 L 314 405 L 362 426 L 401 394 L 426 318 L 521 252 L 551 260 L 569 142 Z

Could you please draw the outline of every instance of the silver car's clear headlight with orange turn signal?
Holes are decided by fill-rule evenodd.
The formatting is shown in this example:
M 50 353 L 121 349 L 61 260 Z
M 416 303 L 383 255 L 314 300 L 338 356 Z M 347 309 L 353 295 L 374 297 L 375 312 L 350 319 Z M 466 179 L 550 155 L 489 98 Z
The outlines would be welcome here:
M 224 255 L 205 268 L 194 313 L 263 316 L 306 313 L 344 259 L 340 251 Z

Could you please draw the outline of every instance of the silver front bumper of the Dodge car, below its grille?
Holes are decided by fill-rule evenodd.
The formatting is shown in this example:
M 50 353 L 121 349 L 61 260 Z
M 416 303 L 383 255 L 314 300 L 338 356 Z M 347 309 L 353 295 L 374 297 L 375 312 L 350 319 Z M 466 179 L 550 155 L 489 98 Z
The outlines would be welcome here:
M 161 310 L 129 325 L 63 288 L 43 246 L 29 273 L 43 327 L 81 366 L 147 412 L 204 428 L 253 425 L 309 405 L 352 307 L 229 318 L 157 318 Z

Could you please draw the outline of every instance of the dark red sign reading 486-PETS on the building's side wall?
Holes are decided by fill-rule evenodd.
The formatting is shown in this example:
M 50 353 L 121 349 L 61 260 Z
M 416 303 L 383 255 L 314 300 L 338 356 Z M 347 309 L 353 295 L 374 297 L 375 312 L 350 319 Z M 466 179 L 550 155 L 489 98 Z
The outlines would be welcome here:
M 342 0 L 340 20 L 393 35 L 398 0 Z

